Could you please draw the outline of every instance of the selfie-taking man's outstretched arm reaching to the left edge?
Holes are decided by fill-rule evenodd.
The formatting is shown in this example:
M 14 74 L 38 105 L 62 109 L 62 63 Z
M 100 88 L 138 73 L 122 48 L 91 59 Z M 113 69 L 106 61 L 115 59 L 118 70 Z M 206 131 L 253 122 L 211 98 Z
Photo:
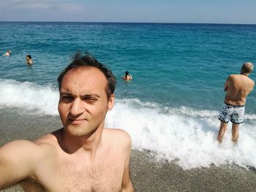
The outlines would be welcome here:
M 37 145 L 18 140 L 0 147 L 0 189 L 32 176 Z

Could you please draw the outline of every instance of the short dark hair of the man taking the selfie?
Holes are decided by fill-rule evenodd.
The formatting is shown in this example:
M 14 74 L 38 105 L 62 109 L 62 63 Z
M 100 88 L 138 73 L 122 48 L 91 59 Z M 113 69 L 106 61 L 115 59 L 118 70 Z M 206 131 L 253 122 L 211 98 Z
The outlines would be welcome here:
M 101 64 L 99 61 L 97 61 L 97 59 L 95 59 L 89 53 L 86 53 L 85 55 L 82 55 L 80 52 L 75 53 L 71 63 L 61 72 L 61 74 L 59 74 L 59 91 L 61 90 L 61 82 L 63 80 L 64 75 L 72 69 L 79 69 L 82 67 L 95 67 L 105 75 L 106 80 L 108 81 L 108 85 L 106 86 L 105 91 L 107 93 L 107 98 L 110 99 L 111 94 L 114 93 L 116 88 L 116 77 L 115 75 L 113 75 L 110 69 Z

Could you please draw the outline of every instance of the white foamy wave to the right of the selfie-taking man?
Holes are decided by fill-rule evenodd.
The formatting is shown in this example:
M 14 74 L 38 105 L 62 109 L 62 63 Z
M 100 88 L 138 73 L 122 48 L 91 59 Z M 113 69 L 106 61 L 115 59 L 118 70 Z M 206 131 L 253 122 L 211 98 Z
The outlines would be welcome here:
M 219 112 L 188 107 L 166 107 L 164 111 L 157 104 L 142 104 L 138 99 L 117 100 L 108 113 L 106 125 L 126 130 L 133 148 L 151 150 L 157 153 L 157 158 L 174 160 L 184 169 L 211 164 L 256 167 L 255 126 L 243 123 L 238 144 L 233 145 L 230 124 L 219 145 Z

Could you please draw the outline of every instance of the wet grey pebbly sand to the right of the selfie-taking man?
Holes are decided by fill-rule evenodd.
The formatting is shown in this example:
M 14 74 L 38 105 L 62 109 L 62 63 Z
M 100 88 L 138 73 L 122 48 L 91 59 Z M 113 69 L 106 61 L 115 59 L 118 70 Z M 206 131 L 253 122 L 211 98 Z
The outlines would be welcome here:
M 135 191 L 256 191 L 255 170 L 211 166 L 183 170 L 170 162 L 155 162 L 147 152 L 132 151 Z

